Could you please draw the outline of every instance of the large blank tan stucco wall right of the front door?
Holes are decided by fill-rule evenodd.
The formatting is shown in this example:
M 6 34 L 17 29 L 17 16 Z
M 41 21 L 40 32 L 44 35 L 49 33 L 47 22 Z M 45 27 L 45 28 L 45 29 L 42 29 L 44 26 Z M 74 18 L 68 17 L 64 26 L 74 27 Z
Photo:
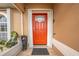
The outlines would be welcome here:
M 79 4 L 55 4 L 54 20 L 54 38 L 79 51 Z

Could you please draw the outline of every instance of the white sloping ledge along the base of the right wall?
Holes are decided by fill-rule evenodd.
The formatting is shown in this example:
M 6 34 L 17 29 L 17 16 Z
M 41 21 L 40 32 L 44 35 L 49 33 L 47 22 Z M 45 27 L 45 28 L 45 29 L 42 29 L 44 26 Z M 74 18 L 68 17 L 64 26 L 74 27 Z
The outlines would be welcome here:
M 61 43 L 60 41 L 53 38 L 53 45 L 64 55 L 64 56 L 79 56 L 79 52 Z

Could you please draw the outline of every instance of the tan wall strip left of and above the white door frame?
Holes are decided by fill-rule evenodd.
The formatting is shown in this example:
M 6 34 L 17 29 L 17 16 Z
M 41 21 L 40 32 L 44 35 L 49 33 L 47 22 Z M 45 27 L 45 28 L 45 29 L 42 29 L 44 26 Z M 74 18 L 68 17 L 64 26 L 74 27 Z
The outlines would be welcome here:
M 52 9 L 53 4 L 25 4 L 24 35 L 28 35 L 28 9 Z

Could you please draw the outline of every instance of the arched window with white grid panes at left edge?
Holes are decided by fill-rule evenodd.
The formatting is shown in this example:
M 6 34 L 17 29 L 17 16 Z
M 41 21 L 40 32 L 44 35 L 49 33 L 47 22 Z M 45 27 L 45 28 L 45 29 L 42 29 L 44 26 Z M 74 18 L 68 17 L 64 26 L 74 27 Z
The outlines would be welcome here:
M 7 24 L 7 18 L 0 14 L 0 39 L 2 40 L 6 40 L 8 38 Z

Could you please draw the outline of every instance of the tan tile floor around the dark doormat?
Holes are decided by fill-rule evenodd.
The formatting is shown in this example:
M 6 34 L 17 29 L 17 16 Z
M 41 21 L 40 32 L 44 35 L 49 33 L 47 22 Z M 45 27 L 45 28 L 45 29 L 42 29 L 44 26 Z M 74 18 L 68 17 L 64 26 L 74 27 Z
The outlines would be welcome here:
M 52 48 L 47 47 L 46 45 L 35 45 L 34 48 L 47 48 L 49 56 L 57 56 L 55 51 Z M 21 51 L 17 56 L 32 56 L 32 48 L 28 48 L 25 51 Z

